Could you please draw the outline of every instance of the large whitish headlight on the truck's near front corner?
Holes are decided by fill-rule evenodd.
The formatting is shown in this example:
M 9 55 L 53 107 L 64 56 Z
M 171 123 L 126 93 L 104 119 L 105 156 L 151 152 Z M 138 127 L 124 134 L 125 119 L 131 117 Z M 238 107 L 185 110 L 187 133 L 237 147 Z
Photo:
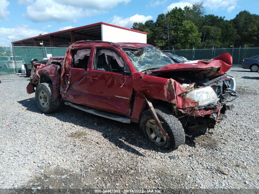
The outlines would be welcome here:
M 218 102 L 218 97 L 211 86 L 206 86 L 204 88 L 194 89 L 187 94 L 185 97 L 189 101 L 198 102 L 198 107 L 204 107 L 209 104 L 214 104 Z

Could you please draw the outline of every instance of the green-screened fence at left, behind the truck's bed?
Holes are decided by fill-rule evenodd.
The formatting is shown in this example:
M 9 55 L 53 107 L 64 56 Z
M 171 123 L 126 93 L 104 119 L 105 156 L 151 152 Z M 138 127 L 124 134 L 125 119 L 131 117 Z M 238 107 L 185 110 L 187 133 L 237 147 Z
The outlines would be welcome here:
M 0 47 L 0 75 L 21 73 L 22 65 L 32 59 L 64 56 L 67 48 L 52 47 Z

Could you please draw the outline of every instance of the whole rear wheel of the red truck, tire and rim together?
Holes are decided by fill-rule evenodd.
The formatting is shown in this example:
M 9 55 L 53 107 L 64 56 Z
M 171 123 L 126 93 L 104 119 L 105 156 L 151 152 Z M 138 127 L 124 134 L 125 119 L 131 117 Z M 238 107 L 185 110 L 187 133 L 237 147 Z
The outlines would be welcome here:
M 52 113 L 59 108 L 60 99 L 53 99 L 51 83 L 41 83 L 35 91 L 36 104 L 40 112 Z

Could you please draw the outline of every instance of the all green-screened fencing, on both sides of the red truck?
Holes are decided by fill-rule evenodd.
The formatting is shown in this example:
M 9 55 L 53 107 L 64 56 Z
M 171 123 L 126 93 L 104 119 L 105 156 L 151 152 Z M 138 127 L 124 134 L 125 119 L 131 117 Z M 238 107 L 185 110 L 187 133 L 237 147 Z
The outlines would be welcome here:
M 53 47 L 0 47 L 0 75 L 21 73 L 22 65 L 29 64 L 31 59 L 41 60 L 50 56 L 64 56 L 67 48 Z M 217 48 L 167 50 L 189 60 L 211 59 L 228 52 L 233 57 L 232 67 L 241 67 L 244 58 L 259 55 L 259 48 Z

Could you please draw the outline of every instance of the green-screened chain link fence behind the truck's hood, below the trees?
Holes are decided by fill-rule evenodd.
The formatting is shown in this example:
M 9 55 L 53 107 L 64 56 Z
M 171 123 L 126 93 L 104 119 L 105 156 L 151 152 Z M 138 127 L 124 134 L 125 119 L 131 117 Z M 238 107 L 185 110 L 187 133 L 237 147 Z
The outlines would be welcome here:
M 232 67 L 241 67 L 243 59 L 259 55 L 259 48 L 216 48 L 216 49 L 189 49 L 164 50 L 174 55 L 183 56 L 189 60 L 212 59 L 228 52 L 233 58 Z

